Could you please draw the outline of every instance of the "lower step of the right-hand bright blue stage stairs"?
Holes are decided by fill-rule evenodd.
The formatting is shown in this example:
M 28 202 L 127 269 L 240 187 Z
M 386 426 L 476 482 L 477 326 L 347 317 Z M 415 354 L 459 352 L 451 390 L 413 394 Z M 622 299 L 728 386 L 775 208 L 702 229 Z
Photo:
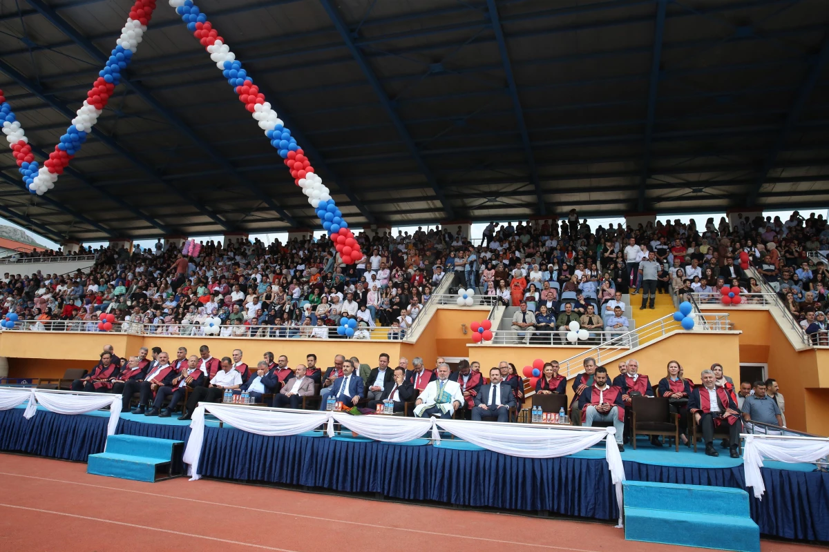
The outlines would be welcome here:
M 760 530 L 750 517 L 624 507 L 624 538 L 714 550 L 759 552 Z

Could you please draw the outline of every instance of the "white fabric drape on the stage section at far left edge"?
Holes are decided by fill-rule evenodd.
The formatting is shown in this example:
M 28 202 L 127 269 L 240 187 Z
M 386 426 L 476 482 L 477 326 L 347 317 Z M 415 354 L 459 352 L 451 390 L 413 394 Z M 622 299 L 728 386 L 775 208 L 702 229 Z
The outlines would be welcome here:
M 71 393 L 30 388 L 0 388 L 0 410 L 8 410 L 29 401 L 23 417 L 31 419 L 37 405 L 58 414 L 78 415 L 109 406 L 107 434 L 114 435 L 121 416 L 121 396 L 109 393 Z

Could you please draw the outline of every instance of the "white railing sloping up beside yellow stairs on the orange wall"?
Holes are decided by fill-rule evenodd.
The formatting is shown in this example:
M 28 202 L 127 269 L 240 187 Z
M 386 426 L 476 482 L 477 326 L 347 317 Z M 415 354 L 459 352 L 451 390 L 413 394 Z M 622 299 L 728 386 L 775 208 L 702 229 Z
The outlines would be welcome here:
M 695 313 L 694 329 L 691 331 L 728 331 L 732 329 L 728 313 Z M 671 332 L 682 330 L 682 326 L 673 318 L 673 314 L 663 316 L 641 328 L 633 329 L 627 334 L 618 335 L 607 343 L 590 348 L 583 353 L 566 358 L 559 362 L 560 373 L 566 377 L 573 377 L 584 371 L 584 359 L 594 358 L 596 364 L 610 362 L 621 353 L 627 353 L 631 348 L 661 338 Z

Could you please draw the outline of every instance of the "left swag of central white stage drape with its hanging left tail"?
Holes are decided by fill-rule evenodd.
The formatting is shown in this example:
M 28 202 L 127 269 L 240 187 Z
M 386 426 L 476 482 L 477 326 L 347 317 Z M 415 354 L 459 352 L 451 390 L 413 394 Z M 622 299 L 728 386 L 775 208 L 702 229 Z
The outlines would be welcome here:
M 184 451 L 184 463 L 190 465 L 191 481 L 201 478 L 198 474 L 201 445 L 204 443 L 205 411 L 230 424 L 237 430 L 269 437 L 297 435 L 314 430 L 331 417 L 331 412 L 315 410 L 263 409 L 259 406 L 238 406 L 199 403 L 190 423 L 190 439 Z

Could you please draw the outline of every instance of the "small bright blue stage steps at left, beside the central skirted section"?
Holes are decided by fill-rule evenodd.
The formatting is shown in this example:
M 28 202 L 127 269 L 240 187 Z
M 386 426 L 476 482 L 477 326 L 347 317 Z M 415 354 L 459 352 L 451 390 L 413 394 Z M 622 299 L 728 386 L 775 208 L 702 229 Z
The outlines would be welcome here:
M 90 454 L 86 473 L 147 482 L 172 478 L 172 458 L 183 446 L 172 439 L 109 435 L 106 450 Z

